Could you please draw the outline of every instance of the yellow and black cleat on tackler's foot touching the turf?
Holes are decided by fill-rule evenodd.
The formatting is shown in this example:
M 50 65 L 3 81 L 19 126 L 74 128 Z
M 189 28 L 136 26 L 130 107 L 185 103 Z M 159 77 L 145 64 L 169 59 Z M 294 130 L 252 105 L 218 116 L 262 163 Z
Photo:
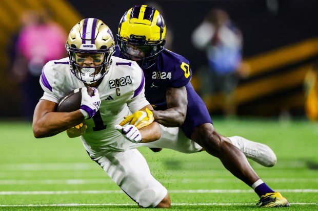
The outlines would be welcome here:
M 267 193 L 261 196 L 259 202 L 256 205 L 260 205 L 260 207 L 283 207 L 290 206 L 287 199 L 285 199 L 279 192 L 275 193 Z

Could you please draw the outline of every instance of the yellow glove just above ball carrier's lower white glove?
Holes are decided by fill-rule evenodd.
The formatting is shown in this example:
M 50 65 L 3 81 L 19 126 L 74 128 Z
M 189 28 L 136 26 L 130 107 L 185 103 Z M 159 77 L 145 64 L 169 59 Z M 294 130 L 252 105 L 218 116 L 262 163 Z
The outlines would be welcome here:
M 143 111 L 136 111 L 131 115 L 125 116 L 124 118 L 125 120 L 120 123 L 120 126 L 124 126 L 129 123 L 130 125 L 136 126 L 137 129 L 146 127 L 154 121 L 153 114 L 148 108 Z

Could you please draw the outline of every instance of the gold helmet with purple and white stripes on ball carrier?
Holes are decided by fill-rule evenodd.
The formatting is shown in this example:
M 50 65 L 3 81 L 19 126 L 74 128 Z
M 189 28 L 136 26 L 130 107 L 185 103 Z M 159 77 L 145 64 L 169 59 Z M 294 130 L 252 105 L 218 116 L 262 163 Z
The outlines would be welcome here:
M 85 18 L 70 31 L 66 50 L 70 58 L 72 73 L 77 79 L 91 84 L 102 79 L 109 71 L 111 55 L 114 53 L 114 37 L 102 20 Z M 89 54 L 100 65 L 87 67 L 78 64 L 76 55 Z M 95 59 L 95 56 L 97 59 Z

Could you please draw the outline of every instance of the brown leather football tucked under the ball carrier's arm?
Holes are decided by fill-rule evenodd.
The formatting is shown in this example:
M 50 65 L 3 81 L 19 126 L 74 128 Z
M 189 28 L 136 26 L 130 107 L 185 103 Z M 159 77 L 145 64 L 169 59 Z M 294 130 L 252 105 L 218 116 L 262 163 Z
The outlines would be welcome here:
M 89 96 L 94 94 L 94 89 L 87 87 Z M 74 89 L 68 92 L 57 106 L 57 112 L 72 112 L 81 108 L 82 102 L 82 88 Z

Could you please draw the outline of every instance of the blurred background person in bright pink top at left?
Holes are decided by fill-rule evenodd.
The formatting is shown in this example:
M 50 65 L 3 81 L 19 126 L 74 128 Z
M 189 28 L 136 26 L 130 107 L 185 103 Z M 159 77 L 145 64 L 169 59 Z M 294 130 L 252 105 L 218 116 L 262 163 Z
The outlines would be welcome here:
M 67 33 L 53 20 L 47 9 L 28 10 L 20 17 L 21 27 L 12 38 L 9 79 L 18 84 L 20 113 L 32 120 L 34 108 L 43 96 L 39 76 L 46 62 L 66 57 Z

